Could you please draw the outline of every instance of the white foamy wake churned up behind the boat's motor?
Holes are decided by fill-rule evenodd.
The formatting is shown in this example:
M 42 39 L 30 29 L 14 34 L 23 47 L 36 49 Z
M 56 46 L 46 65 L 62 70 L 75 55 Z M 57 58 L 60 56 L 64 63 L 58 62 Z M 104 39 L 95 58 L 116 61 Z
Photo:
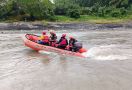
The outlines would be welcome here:
M 97 46 L 83 53 L 85 57 L 94 60 L 126 60 L 132 58 L 131 55 L 126 54 L 117 45 Z

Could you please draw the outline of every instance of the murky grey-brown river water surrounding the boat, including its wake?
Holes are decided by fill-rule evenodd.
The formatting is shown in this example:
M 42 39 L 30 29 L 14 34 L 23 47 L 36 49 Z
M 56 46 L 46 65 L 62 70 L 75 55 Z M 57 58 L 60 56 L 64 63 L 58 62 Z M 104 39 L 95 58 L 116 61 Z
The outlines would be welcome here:
M 57 31 L 83 42 L 87 58 L 24 46 L 24 34 L 41 31 L 0 33 L 0 90 L 132 90 L 130 29 Z

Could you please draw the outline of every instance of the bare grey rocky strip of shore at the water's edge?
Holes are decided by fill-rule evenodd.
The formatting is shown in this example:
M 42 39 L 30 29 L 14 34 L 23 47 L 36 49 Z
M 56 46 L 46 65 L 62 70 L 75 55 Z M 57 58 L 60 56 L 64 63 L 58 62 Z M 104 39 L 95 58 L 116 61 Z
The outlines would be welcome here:
M 0 23 L 0 30 L 102 30 L 102 29 L 116 29 L 116 28 L 130 28 L 132 29 L 132 21 L 123 23 L 89 23 L 89 22 L 12 22 Z

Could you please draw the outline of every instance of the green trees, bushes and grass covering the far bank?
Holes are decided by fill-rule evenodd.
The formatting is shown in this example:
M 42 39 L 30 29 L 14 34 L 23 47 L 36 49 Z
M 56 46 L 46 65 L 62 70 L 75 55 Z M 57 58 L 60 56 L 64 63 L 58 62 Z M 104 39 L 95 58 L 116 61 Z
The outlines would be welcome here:
M 132 19 L 132 0 L 1 0 L 1 21 L 118 23 Z

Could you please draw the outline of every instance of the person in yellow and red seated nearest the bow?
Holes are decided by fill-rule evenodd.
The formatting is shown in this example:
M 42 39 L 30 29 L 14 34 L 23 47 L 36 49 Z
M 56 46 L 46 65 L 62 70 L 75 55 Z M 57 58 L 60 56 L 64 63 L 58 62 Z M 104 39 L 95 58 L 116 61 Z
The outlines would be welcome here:
M 42 35 L 40 36 L 40 40 L 38 40 L 39 44 L 42 45 L 49 45 L 49 36 L 46 35 L 46 32 L 42 32 Z

